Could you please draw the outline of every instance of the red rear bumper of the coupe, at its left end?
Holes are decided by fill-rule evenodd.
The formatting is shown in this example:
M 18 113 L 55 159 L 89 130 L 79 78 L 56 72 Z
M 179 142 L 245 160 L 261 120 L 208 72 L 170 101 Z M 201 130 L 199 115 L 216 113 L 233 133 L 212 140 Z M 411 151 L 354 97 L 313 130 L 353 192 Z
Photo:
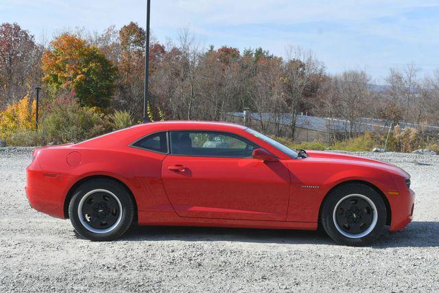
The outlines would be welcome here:
M 71 176 L 44 173 L 35 161 L 26 169 L 27 200 L 37 211 L 64 219 L 64 200 Z

